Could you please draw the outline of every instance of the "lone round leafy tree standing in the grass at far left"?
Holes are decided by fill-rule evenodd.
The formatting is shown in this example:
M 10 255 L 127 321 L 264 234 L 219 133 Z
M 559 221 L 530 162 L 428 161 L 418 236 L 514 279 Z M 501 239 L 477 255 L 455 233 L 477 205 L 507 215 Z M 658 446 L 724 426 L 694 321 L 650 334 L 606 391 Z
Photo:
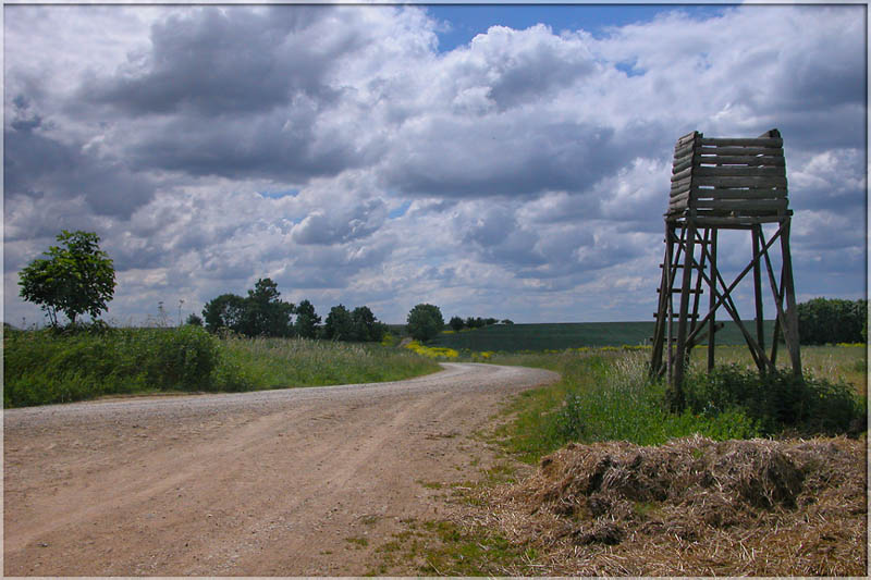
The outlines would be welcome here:
M 58 311 L 66 314 L 70 324 L 81 314 L 99 317 L 112 299 L 115 270 L 111 258 L 100 250 L 100 238 L 91 232 L 58 234 L 60 246 L 51 246 L 21 271 L 21 297 L 39 305 L 52 326 L 58 325 Z

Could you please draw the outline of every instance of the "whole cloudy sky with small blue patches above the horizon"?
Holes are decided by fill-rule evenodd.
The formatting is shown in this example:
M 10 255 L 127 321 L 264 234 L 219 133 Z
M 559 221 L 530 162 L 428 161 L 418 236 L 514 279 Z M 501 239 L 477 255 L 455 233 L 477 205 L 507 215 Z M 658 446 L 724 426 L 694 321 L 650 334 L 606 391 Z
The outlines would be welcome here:
M 61 229 L 101 237 L 119 324 L 159 303 L 199 313 L 260 277 L 321 314 L 366 305 L 391 323 L 419 303 L 446 318 L 652 320 L 675 139 L 774 127 L 798 298 L 859 298 L 866 16 L 7 5 L 5 320 L 44 320 L 19 272 Z M 726 273 L 748 247 L 722 238 Z M 751 296 L 739 287 L 739 308 Z

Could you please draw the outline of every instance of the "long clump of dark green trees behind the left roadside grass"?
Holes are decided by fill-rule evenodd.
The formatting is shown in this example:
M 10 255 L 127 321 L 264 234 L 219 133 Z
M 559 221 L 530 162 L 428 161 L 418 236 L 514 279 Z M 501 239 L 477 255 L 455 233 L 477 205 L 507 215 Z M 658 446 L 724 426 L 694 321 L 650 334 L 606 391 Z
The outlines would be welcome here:
M 333 306 L 321 325 L 321 317 L 309 300 L 298 305 L 282 300 L 278 284 L 268 277 L 258 280 L 245 297 L 222 294 L 213 298 L 203 309 L 203 319 L 192 316 L 188 323 L 205 323 L 209 332 L 232 331 L 249 337 L 298 336 L 365 343 L 381 342 L 387 333 L 387 324 L 368 306 L 353 310 L 341 304 Z

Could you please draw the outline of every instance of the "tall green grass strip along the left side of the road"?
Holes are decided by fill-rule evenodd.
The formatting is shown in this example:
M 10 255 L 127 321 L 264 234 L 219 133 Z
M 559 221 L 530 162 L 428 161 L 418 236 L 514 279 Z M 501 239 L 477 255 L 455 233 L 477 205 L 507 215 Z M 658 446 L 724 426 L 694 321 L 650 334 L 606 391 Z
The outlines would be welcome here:
M 196 326 L 3 333 L 4 408 L 119 394 L 394 381 L 438 370 L 434 361 L 405 349 L 304 338 L 218 338 Z

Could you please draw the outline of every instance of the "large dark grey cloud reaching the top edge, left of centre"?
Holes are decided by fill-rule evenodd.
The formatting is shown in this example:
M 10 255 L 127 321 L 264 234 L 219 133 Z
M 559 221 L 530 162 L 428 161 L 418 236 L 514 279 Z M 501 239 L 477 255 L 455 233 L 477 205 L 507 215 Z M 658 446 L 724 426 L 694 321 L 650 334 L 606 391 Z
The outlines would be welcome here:
M 323 77 L 357 40 L 347 32 L 326 47 L 311 44 L 306 29 L 330 11 L 209 7 L 171 16 L 152 26 L 150 54 L 112 77 L 91 79 L 81 95 L 134 114 L 203 116 L 269 111 L 297 94 L 331 100 L 335 94 Z

